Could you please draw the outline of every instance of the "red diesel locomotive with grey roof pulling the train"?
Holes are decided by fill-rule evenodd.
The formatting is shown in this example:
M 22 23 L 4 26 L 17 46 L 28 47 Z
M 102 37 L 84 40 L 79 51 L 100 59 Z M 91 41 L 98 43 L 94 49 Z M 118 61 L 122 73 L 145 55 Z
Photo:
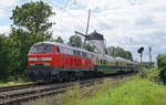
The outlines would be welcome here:
M 28 54 L 28 76 L 32 81 L 56 81 L 93 76 L 92 53 L 55 42 L 39 42 Z

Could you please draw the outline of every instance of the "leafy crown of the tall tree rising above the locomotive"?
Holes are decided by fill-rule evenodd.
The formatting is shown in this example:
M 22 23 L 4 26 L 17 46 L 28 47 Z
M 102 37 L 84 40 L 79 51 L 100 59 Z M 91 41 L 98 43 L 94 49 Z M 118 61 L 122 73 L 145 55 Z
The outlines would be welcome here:
M 33 43 L 49 40 L 51 32 L 49 29 L 52 27 L 52 22 L 49 21 L 49 17 L 54 14 L 52 8 L 43 1 L 28 2 L 21 7 L 15 7 L 12 10 L 13 24 L 25 29 L 31 35 L 33 35 Z

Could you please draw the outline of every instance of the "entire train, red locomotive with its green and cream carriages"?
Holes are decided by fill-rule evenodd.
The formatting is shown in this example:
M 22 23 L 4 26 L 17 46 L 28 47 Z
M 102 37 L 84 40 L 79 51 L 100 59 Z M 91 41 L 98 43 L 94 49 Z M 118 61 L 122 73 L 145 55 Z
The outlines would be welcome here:
M 27 75 L 33 82 L 103 76 L 137 71 L 138 64 L 123 57 L 96 54 L 56 42 L 39 42 L 28 53 Z

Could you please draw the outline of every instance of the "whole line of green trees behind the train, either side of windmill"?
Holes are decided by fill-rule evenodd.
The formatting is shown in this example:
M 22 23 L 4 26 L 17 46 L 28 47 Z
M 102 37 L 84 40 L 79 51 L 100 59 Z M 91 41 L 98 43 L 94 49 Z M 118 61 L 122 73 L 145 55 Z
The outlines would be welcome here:
M 43 1 L 27 2 L 12 10 L 10 33 L 0 34 L 0 81 L 9 81 L 11 76 L 14 80 L 24 76 L 28 52 L 34 43 L 41 41 L 64 43 L 61 36 L 52 38 L 53 32 L 50 29 L 54 23 L 50 22 L 49 18 L 54 14 L 52 7 Z M 68 44 L 94 51 L 89 43 L 83 45 L 79 35 L 70 36 Z M 133 60 L 132 53 L 122 48 L 110 46 L 107 51 L 112 56 Z

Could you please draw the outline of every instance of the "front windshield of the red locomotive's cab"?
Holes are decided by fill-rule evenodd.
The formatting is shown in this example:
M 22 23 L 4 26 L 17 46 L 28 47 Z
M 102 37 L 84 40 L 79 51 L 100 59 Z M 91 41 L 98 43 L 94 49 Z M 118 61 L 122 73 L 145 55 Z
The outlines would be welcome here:
M 52 46 L 51 45 L 34 45 L 31 51 L 31 53 L 50 53 L 52 52 Z

